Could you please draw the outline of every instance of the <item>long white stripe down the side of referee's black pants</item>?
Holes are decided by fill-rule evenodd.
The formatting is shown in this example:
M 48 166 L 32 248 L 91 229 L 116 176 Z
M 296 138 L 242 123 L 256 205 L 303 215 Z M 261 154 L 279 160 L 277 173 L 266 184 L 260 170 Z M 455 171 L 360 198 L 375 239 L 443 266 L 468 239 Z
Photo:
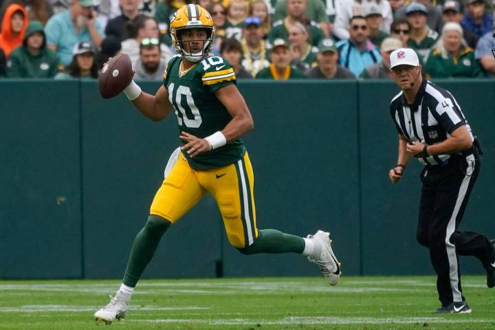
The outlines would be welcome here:
M 454 206 L 454 211 L 450 217 L 449 223 L 447 225 L 447 232 L 445 236 L 445 248 L 447 250 L 448 261 L 450 265 L 450 287 L 452 288 L 452 298 L 454 302 L 462 301 L 462 294 L 459 291 L 459 269 L 457 267 L 457 256 L 455 252 L 455 245 L 450 242 L 450 236 L 454 234 L 457 214 L 459 214 L 459 209 L 464 201 L 465 194 L 467 192 L 467 187 L 471 181 L 471 175 L 474 170 L 474 155 L 469 155 L 466 157 L 467 168 L 466 175 L 461 183 L 461 188 L 459 188 L 459 195 L 457 195 L 457 200 Z

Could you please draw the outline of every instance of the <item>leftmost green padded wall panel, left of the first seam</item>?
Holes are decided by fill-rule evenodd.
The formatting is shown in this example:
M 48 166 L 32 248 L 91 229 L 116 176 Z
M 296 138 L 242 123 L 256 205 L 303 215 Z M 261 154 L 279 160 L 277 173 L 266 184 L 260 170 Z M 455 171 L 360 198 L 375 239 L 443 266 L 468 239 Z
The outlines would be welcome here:
M 81 276 L 78 86 L 0 81 L 0 278 Z

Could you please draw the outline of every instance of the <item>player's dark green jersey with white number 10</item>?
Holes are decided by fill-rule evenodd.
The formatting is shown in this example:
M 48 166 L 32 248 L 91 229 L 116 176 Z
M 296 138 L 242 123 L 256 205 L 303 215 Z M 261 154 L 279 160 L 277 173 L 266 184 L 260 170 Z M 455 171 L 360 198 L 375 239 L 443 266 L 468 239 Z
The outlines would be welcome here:
M 218 56 L 208 56 L 184 74 L 180 74 L 181 56 L 170 58 L 164 72 L 164 86 L 168 100 L 177 115 L 179 132 L 184 131 L 200 138 L 221 131 L 232 120 L 225 106 L 214 92 L 227 85 L 236 84 L 234 69 Z M 181 142 L 185 144 L 184 142 Z M 241 139 L 194 158 L 183 152 L 195 170 L 208 170 L 232 164 L 243 157 Z

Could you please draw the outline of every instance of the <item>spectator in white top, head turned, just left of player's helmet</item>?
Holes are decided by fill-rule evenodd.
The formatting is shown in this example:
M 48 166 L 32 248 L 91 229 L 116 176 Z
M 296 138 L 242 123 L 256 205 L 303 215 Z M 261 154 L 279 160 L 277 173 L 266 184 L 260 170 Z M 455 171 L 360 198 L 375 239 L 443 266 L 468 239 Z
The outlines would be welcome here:
M 127 22 L 129 39 L 122 41 L 122 53 L 126 53 L 131 58 L 133 65 L 140 57 L 140 43 L 147 38 L 153 43 L 159 43 L 158 25 L 153 17 L 137 17 L 134 21 Z M 168 63 L 172 57 L 172 52 L 167 45 L 160 43 L 162 60 Z

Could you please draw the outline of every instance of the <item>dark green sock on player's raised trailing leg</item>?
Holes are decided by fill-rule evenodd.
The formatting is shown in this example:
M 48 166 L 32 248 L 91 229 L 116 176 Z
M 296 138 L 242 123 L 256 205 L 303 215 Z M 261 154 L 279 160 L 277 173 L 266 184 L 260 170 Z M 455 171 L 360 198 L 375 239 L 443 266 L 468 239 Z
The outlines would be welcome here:
M 258 231 L 258 237 L 252 245 L 238 249 L 243 254 L 257 253 L 303 253 L 305 240 L 299 236 L 285 234 L 274 229 Z

